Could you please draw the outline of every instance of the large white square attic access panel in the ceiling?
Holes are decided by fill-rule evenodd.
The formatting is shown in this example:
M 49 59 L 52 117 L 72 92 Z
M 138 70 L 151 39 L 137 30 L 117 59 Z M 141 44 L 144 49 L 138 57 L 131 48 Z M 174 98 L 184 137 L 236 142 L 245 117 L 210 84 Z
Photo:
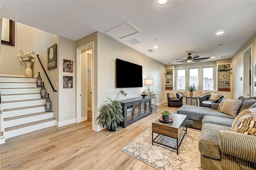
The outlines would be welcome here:
M 112 36 L 120 40 L 121 38 L 136 34 L 138 32 L 141 31 L 134 25 L 132 25 L 130 22 L 126 22 L 120 26 L 117 26 L 111 30 L 106 31 L 105 34 L 108 34 L 109 36 Z

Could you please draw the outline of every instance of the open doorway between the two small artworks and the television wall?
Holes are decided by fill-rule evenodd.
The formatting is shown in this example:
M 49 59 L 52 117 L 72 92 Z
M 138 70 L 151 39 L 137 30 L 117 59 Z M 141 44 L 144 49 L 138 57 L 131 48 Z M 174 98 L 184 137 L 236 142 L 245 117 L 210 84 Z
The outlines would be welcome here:
M 93 108 L 93 63 L 94 42 L 76 48 L 77 91 L 76 91 L 76 122 L 94 120 Z M 91 116 L 88 119 L 88 116 Z M 94 122 L 92 121 L 92 129 Z

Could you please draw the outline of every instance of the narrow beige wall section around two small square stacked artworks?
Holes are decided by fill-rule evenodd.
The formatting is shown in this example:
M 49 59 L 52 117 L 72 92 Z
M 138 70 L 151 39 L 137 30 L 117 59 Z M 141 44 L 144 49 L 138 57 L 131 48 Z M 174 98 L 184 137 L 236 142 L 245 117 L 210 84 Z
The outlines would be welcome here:
M 73 72 L 63 72 L 63 59 L 73 61 Z M 57 69 L 59 92 L 59 124 L 76 122 L 76 42 L 59 37 L 59 60 Z M 73 88 L 63 88 L 63 76 L 73 76 Z M 66 121 L 66 122 L 65 122 Z

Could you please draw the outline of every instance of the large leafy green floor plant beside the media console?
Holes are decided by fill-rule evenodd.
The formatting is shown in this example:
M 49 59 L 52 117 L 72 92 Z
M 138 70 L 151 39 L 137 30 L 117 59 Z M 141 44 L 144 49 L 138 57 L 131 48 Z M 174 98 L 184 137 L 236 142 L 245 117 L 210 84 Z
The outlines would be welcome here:
M 116 100 L 108 98 L 99 109 L 100 115 L 96 118 L 98 123 L 104 128 L 107 126 L 108 131 L 116 131 L 117 124 L 124 122 L 123 110 L 121 103 Z M 104 102 L 104 103 L 105 103 Z

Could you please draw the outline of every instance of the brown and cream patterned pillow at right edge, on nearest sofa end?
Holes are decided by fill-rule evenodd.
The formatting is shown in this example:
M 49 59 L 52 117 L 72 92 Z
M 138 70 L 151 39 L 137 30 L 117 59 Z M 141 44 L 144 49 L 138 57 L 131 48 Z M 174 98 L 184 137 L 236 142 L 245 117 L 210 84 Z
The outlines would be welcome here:
M 256 136 L 256 113 L 242 116 L 238 120 L 234 132 Z

